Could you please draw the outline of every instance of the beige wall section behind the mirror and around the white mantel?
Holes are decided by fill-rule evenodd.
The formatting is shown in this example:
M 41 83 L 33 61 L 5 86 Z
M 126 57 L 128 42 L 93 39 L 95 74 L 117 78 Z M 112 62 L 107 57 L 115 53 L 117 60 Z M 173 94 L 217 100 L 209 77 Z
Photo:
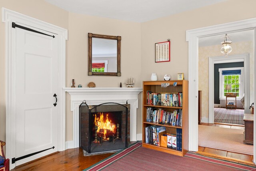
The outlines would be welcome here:
M 128 77 L 134 77 L 135 87 L 141 87 L 140 23 L 74 13 L 69 13 L 68 21 L 68 57 L 66 62 L 66 85 L 68 87 L 70 87 L 72 79 L 75 79 L 76 86 L 82 84 L 82 87 L 87 87 L 89 82 L 94 82 L 96 87 L 119 87 L 120 82 L 124 86 L 123 83 L 126 82 Z M 88 32 L 122 36 L 121 77 L 88 76 Z M 138 111 L 138 115 L 141 116 L 140 110 Z M 139 121 L 141 122 L 141 120 Z M 67 141 L 73 139 L 72 127 L 70 95 L 66 93 Z

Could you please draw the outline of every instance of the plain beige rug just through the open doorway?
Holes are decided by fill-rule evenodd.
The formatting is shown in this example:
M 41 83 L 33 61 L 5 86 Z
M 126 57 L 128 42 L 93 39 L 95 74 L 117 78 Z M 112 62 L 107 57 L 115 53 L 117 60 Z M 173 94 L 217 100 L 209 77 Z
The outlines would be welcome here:
M 253 145 L 243 143 L 244 130 L 198 125 L 198 145 L 253 155 Z

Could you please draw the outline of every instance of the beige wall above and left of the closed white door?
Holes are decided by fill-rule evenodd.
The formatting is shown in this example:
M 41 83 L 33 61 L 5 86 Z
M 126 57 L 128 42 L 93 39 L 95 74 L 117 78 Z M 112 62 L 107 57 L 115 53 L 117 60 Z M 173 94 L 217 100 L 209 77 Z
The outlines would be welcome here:
M 0 0 L 0 7 L 8 8 L 30 17 L 68 29 L 68 12 L 44 0 Z M 2 18 L 2 10 L 0 12 Z M 0 140 L 5 141 L 5 24 L 0 22 Z

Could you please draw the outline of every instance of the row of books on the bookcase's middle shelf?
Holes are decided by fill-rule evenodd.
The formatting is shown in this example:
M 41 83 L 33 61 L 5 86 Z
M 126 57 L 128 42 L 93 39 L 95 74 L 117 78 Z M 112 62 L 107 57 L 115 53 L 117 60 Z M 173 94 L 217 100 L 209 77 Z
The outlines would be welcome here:
M 182 109 L 170 112 L 161 108 L 147 107 L 146 121 L 182 126 Z

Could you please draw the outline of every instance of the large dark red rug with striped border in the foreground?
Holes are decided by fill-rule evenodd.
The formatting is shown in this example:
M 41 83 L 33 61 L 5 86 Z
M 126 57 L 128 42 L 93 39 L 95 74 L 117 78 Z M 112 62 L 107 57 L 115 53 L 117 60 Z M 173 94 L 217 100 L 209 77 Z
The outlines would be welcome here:
M 237 171 L 256 167 L 187 153 L 184 157 L 142 147 L 135 143 L 84 171 Z

